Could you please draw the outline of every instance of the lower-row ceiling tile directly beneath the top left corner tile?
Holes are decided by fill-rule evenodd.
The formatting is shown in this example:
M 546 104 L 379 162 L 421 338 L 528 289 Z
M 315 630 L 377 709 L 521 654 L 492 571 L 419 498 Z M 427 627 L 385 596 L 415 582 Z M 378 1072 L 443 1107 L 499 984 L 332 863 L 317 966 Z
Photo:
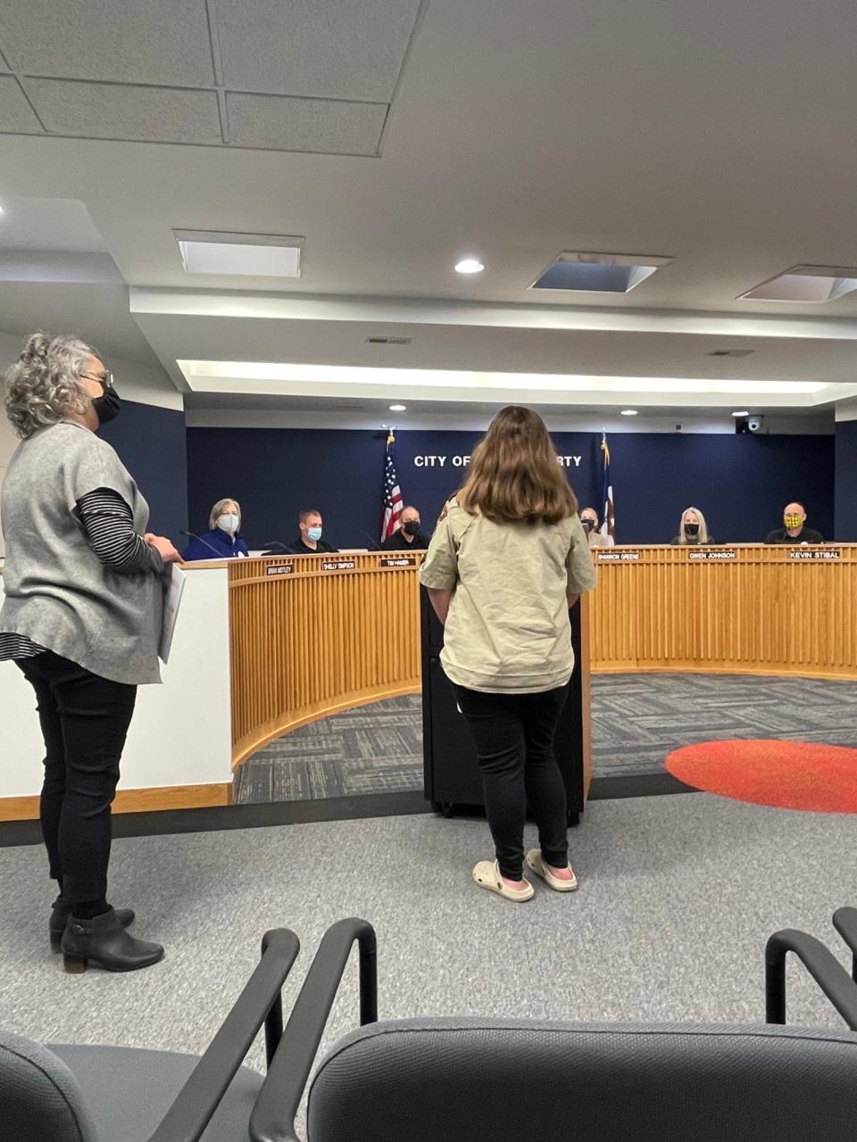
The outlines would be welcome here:
M 214 91 L 57 79 L 24 82 L 45 127 L 55 135 L 157 143 L 221 142 Z

